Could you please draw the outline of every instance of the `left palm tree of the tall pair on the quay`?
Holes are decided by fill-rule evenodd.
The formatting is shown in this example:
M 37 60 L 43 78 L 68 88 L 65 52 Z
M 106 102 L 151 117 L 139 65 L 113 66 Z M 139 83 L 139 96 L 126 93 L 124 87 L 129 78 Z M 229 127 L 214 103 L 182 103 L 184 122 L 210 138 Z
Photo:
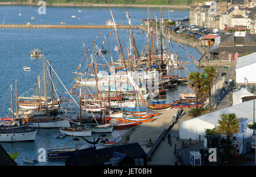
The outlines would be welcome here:
M 191 72 L 188 76 L 188 84 L 195 91 L 196 109 L 198 109 L 199 88 L 200 88 L 200 83 L 201 83 L 200 75 L 201 75 L 201 73 L 194 71 L 194 72 Z

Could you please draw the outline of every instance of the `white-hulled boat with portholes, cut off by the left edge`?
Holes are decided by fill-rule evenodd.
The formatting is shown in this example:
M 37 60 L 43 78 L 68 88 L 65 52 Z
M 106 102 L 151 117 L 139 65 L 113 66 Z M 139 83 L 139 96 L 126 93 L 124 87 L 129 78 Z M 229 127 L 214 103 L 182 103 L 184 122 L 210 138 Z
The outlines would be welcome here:
M 32 128 L 0 128 L 0 142 L 34 141 L 35 136 L 36 129 Z

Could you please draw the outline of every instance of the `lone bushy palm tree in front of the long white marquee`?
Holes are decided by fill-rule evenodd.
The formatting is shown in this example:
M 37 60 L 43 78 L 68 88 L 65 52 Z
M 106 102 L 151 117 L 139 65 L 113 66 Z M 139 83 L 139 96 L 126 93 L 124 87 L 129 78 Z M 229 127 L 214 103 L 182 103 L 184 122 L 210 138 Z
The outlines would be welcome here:
M 239 127 L 239 120 L 235 113 L 222 113 L 220 115 L 221 119 L 218 120 L 218 133 L 226 135 L 226 146 L 224 150 L 230 154 L 230 150 L 232 149 L 232 139 L 231 137 L 235 134 L 240 132 Z

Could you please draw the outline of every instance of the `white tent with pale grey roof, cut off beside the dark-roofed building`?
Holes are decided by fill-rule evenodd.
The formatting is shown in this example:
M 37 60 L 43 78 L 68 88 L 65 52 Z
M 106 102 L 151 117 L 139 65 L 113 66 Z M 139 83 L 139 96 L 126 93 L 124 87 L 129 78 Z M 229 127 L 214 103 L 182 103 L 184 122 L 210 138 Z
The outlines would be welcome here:
M 256 52 L 239 57 L 236 65 L 236 82 L 244 83 L 247 78 L 248 83 L 256 83 Z

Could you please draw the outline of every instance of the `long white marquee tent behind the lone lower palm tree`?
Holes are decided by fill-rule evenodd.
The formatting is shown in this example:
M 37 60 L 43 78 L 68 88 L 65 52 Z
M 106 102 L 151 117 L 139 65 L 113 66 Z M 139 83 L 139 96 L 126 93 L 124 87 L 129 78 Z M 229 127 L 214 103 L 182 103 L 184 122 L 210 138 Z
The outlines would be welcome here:
M 253 100 L 248 102 L 243 102 L 240 104 L 236 104 L 231 107 L 227 107 L 224 109 L 220 109 L 218 111 L 214 111 L 208 113 L 206 115 L 202 115 L 199 117 L 195 117 L 193 119 L 189 119 L 186 121 L 182 121 L 179 123 L 179 138 L 189 140 L 203 140 L 205 136 L 205 129 L 212 129 L 217 127 L 218 120 L 221 119 L 220 115 L 222 113 L 236 113 L 237 118 L 248 119 L 247 122 L 252 124 L 253 121 Z M 240 124 L 241 127 L 241 124 Z M 246 126 L 245 126 L 246 127 Z M 246 153 L 248 147 L 250 146 L 250 138 L 253 134 L 253 130 L 247 128 L 246 130 L 240 131 L 239 133 L 235 134 L 234 136 L 237 138 L 237 142 L 240 143 L 241 149 L 240 153 Z M 249 142 L 249 145 L 247 144 Z M 243 148 L 242 148 L 243 147 Z

